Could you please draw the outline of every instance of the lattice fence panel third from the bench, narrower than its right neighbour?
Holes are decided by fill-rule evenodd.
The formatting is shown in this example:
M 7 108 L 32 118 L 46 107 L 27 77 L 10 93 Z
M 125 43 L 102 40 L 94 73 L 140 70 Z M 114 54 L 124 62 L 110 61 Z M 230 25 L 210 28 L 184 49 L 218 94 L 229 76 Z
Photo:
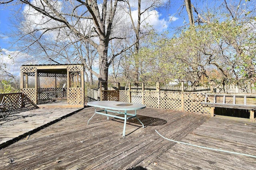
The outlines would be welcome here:
M 144 104 L 147 107 L 158 108 L 159 92 L 144 92 Z

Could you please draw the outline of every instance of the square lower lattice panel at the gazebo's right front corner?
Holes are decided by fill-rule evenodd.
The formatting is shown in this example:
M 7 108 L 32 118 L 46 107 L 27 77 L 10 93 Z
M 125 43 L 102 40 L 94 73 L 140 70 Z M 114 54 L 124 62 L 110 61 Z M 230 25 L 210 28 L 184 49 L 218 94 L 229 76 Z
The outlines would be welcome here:
M 68 88 L 68 105 L 84 105 L 84 90 L 82 88 Z

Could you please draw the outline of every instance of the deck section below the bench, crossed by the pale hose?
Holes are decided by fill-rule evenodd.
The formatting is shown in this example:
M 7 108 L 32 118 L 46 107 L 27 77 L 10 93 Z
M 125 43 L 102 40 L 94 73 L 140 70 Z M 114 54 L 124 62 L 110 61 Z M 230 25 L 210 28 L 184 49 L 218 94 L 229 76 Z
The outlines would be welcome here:
M 182 142 L 256 156 L 256 124 L 248 119 L 216 116 L 204 122 Z M 164 135 L 168 137 L 167 135 Z M 171 142 L 171 141 L 170 141 Z M 156 169 L 256 169 L 256 158 L 201 149 L 177 143 L 150 164 Z M 171 167 L 171 168 L 170 168 Z

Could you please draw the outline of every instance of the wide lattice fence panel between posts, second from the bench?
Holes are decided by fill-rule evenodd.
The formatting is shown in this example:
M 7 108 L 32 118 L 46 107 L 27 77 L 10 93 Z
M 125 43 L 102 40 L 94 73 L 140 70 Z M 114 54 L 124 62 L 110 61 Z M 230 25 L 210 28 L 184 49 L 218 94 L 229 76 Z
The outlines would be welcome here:
M 160 108 L 182 111 L 181 93 L 160 92 Z

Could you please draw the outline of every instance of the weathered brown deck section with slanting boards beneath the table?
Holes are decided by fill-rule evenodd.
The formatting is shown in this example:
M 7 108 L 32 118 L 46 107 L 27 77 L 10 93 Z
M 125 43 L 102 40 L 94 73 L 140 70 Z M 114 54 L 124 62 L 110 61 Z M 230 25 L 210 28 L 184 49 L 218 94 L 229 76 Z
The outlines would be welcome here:
M 87 125 L 93 113 L 94 108 L 85 108 L 30 135 L 28 140 L 22 139 L 0 150 L 0 169 L 98 170 L 147 166 L 174 145 L 161 139 L 155 129 L 182 139 L 208 117 L 146 108 L 137 112 L 146 127 L 131 119 L 123 138 L 123 121 L 107 121 L 106 116 L 95 115 Z M 8 163 L 10 157 L 16 158 L 14 164 Z

